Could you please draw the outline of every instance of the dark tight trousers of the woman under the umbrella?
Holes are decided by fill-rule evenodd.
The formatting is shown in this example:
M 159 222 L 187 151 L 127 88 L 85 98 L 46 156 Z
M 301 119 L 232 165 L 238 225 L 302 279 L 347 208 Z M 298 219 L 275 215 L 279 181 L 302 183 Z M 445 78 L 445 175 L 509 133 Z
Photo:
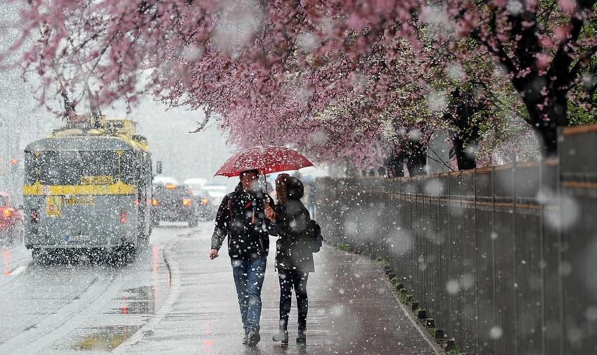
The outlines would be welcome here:
M 293 288 L 297 296 L 298 329 L 307 330 L 307 311 L 309 310 L 309 299 L 307 298 L 308 272 L 298 270 L 278 269 L 280 280 L 280 328 L 288 326 L 288 314 L 293 299 Z

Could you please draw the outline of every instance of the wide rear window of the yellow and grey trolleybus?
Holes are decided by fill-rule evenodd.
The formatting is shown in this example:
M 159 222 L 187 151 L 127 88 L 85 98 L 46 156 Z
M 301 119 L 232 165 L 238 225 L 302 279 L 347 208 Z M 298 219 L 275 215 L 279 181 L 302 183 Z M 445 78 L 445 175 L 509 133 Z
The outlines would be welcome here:
M 118 157 L 112 150 L 46 150 L 39 156 L 42 185 L 105 184 L 117 179 Z

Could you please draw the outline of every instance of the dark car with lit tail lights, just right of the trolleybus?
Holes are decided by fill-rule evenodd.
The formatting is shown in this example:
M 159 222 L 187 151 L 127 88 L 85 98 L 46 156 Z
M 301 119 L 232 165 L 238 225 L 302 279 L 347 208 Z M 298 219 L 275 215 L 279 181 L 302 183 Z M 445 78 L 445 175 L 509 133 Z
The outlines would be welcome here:
M 186 221 L 192 227 L 198 221 L 190 189 L 174 183 L 154 183 L 151 212 L 154 226 L 160 221 Z

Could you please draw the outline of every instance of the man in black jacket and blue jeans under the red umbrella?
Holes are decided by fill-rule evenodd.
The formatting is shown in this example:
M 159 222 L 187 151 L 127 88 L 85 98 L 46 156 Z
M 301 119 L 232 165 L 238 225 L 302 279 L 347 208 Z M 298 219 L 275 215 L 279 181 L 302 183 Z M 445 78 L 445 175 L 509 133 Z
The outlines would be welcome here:
M 218 257 L 219 248 L 228 236 L 228 254 L 238 295 L 240 317 L 245 337 L 243 344 L 257 345 L 261 317 L 261 290 L 269 252 L 269 219 L 264 206 L 274 200 L 262 192 L 259 172 L 240 173 L 240 183 L 224 197 L 216 215 L 210 259 Z

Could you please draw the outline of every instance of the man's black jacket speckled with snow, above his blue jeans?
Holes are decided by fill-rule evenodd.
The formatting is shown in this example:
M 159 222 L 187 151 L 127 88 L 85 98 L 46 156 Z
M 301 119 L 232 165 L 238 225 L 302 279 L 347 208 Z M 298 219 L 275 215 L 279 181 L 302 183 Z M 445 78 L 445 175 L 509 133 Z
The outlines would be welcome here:
M 274 200 L 262 192 L 246 192 L 239 183 L 233 193 L 222 199 L 212 235 L 212 249 L 219 250 L 228 237 L 228 254 L 232 259 L 252 260 L 267 257 L 269 252 L 269 219 L 264 202 Z

